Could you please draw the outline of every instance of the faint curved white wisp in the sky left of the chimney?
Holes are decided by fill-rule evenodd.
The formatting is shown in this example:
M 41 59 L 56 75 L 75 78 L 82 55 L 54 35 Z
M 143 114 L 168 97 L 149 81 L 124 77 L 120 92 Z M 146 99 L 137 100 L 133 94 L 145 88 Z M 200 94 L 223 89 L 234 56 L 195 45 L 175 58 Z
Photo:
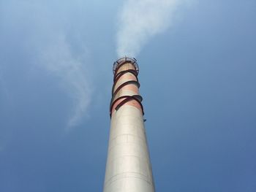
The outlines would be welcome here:
M 85 53 L 83 53 L 86 55 Z M 87 64 L 83 59 L 72 54 L 64 35 L 55 37 L 52 44 L 43 48 L 39 54 L 41 66 L 61 80 L 61 87 L 69 94 L 73 101 L 68 128 L 77 126 L 87 114 L 91 102 L 91 86 L 88 78 Z

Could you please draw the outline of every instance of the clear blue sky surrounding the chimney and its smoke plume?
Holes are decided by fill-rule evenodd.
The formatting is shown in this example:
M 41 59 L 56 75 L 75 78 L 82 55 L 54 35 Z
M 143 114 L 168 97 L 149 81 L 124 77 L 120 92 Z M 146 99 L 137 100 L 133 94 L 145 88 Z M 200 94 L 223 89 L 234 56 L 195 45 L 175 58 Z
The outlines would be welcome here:
M 102 191 L 125 3 L 0 1 L 0 191 Z M 255 18 L 193 1 L 141 47 L 157 191 L 256 191 Z

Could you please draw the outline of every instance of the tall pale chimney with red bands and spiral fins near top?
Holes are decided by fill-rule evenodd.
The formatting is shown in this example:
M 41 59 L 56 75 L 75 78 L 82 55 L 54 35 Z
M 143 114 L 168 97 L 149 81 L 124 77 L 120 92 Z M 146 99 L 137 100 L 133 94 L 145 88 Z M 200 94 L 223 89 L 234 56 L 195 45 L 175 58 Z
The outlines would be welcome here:
M 104 192 L 154 192 L 135 58 L 113 65 L 110 139 Z

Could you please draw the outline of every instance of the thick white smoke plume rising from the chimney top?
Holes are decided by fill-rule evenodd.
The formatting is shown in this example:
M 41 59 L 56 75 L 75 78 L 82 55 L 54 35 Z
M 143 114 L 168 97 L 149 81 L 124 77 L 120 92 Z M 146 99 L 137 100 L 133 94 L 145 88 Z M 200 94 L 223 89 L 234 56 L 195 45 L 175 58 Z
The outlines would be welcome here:
M 118 16 L 117 54 L 135 57 L 141 47 L 173 23 L 176 9 L 189 0 L 127 0 Z

